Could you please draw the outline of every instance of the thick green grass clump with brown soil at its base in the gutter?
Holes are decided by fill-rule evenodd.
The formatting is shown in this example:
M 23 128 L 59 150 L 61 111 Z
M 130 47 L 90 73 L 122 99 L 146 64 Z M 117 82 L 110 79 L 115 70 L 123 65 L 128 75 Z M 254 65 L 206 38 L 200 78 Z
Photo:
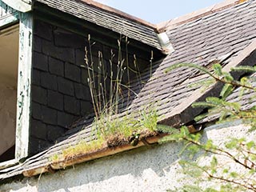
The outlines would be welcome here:
M 134 139 L 139 141 L 157 133 L 157 122 L 156 110 L 145 108 L 137 116 L 134 114 L 122 118 L 102 116 L 94 122 L 93 126 L 95 130 L 101 131 L 100 137 L 106 141 L 107 146 L 129 143 L 135 146 Z

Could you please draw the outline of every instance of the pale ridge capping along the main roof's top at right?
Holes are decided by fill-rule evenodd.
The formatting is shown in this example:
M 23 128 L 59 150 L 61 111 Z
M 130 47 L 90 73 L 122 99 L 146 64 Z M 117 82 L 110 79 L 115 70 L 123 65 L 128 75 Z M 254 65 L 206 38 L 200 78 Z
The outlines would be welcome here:
M 202 8 L 201 10 L 195 10 L 191 12 L 190 14 L 182 15 L 181 17 L 171 19 L 166 22 L 160 22 L 158 23 L 157 30 L 159 33 L 170 30 L 174 28 L 175 26 L 180 26 L 182 24 L 185 24 L 187 22 L 192 22 L 198 18 L 202 18 L 206 15 L 216 13 L 220 10 L 226 10 L 227 8 L 230 8 L 231 6 L 238 5 L 243 2 L 247 2 L 248 0 L 226 0 L 225 2 L 219 2 L 217 4 L 214 4 L 213 6 L 208 6 L 206 8 Z

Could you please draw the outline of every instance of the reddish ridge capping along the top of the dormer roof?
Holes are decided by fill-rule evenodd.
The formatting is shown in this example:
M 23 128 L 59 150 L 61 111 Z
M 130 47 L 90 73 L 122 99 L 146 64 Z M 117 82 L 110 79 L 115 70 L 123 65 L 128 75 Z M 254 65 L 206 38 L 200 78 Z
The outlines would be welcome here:
M 100 2 L 95 2 L 93 0 L 76 0 L 76 1 L 84 2 L 87 5 L 94 6 L 98 9 L 101 9 L 101 10 L 106 10 L 107 12 L 110 12 L 111 14 L 117 14 L 119 16 L 122 16 L 123 18 L 129 19 L 130 21 L 137 22 L 137 23 L 142 24 L 144 26 L 148 26 L 148 27 L 154 29 L 155 32 L 158 32 L 157 25 L 152 24 L 150 22 L 147 22 L 147 21 L 143 20 L 142 18 L 137 18 L 134 15 L 126 14 L 122 10 L 117 10 L 117 9 L 111 7 L 111 6 L 106 6 L 106 5 L 104 5 Z

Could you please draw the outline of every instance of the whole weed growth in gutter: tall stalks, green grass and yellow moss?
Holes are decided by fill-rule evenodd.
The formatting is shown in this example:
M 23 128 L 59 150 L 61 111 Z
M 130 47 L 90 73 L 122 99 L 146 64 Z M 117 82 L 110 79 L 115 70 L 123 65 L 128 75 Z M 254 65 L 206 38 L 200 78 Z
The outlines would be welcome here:
M 122 58 L 122 40 L 122 38 L 118 40 L 118 63 L 114 63 L 115 55 L 111 51 L 108 71 L 106 61 L 103 59 L 101 52 L 98 52 L 98 64 L 94 62 L 91 47 L 94 43 L 90 42 L 89 35 L 89 47 L 85 49 L 84 67 L 88 72 L 88 85 L 95 114 L 92 132 L 96 134 L 97 138 L 90 142 L 80 141 L 78 144 L 62 150 L 61 155 L 51 158 L 52 162 L 58 162 L 60 159 L 75 158 L 81 154 L 90 154 L 105 147 L 124 144 L 136 146 L 139 141 L 158 134 L 158 114 L 154 106 L 149 105 L 137 112 L 131 111 L 131 114 L 120 114 L 122 108 L 126 108 L 129 105 L 129 96 L 133 92 L 130 89 L 131 68 L 127 50 L 129 42 L 125 38 L 126 57 Z M 153 55 L 150 58 L 150 67 L 152 66 L 152 60 Z M 135 56 L 133 64 L 135 78 L 142 79 Z M 123 82 L 124 76 L 128 80 L 126 83 Z M 125 89 L 128 92 L 128 98 L 123 95 L 123 90 Z

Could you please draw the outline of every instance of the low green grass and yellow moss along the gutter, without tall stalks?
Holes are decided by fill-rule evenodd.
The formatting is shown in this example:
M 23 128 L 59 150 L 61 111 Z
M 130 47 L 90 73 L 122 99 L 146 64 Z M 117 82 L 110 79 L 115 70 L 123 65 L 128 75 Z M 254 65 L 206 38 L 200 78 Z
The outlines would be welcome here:
M 110 118 L 110 117 L 108 117 Z M 97 139 L 90 142 L 81 140 L 74 146 L 62 150 L 62 154 L 55 154 L 50 157 L 50 162 L 58 162 L 78 157 L 82 154 L 90 154 L 104 148 L 112 148 L 124 144 L 137 146 L 138 142 L 158 134 L 158 115 L 156 110 L 143 109 L 138 118 L 110 118 L 95 121 L 94 129 L 103 130 L 104 133 L 97 133 Z M 97 128 L 98 127 L 98 128 Z

